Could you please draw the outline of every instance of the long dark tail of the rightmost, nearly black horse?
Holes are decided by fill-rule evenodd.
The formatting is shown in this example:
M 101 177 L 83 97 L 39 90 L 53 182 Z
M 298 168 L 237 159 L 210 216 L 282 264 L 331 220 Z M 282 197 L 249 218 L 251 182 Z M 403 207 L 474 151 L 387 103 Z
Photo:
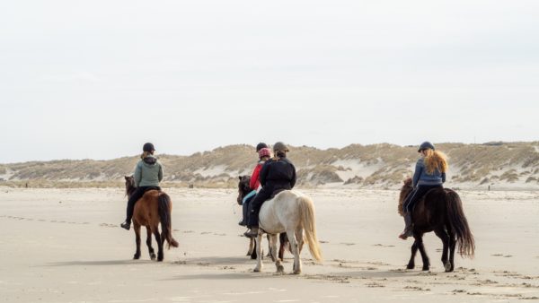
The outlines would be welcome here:
M 453 190 L 446 191 L 446 207 L 449 225 L 456 235 L 458 253 L 472 258 L 475 254 L 475 241 L 464 215 L 463 203 Z

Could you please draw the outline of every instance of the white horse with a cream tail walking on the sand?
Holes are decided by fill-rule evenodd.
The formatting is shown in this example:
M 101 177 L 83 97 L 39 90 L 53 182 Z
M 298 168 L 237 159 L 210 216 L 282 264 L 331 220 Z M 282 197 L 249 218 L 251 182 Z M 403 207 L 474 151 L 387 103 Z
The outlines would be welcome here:
M 294 273 L 301 273 L 301 260 L 299 253 L 305 241 L 309 246 L 314 260 L 322 262 L 320 245 L 316 238 L 316 226 L 314 220 L 314 204 L 311 198 L 296 191 L 285 190 L 273 199 L 266 201 L 261 206 L 259 214 L 259 234 L 257 241 L 257 259 L 255 273 L 262 271 L 262 235 L 270 235 L 271 255 L 277 256 L 277 235 L 286 232 L 290 241 L 290 248 L 294 255 Z M 273 258 L 278 273 L 284 273 L 281 260 Z

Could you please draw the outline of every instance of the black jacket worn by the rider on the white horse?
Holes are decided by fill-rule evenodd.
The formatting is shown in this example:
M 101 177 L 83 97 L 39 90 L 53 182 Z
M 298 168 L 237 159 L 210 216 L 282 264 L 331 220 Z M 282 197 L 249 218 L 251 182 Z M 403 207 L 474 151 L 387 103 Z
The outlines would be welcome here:
M 287 158 L 267 160 L 261 169 L 261 185 L 272 191 L 292 189 L 296 185 L 296 168 Z

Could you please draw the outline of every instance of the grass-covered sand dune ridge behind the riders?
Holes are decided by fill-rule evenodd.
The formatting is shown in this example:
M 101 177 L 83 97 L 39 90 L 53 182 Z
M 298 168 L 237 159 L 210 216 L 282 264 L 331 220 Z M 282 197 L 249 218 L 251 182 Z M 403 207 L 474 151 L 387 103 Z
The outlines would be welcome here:
M 539 142 L 438 143 L 450 171 L 446 186 L 470 189 L 539 189 Z M 342 149 L 290 148 L 298 186 L 398 188 L 411 176 L 416 146 L 352 144 Z M 190 156 L 159 154 L 163 186 L 234 187 L 251 174 L 257 155 L 250 145 L 229 145 Z M 138 157 L 114 160 L 53 160 L 0 164 L 0 186 L 121 186 Z

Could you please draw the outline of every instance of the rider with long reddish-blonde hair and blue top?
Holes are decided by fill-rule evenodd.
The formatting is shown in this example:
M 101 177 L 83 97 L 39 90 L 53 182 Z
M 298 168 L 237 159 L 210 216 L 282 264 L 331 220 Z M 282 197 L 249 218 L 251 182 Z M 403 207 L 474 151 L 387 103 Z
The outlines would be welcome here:
M 414 187 L 402 205 L 404 223 L 406 227 L 399 238 L 406 239 L 412 236 L 411 212 L 415 203 L 433 188 L 443 188 L 446 182 L 447 160 L 446 155 L 435 150 L 429 142 L 421 143 L 419 151 L 421 158 L 416 163 L 415 172 L 411 180 Z

